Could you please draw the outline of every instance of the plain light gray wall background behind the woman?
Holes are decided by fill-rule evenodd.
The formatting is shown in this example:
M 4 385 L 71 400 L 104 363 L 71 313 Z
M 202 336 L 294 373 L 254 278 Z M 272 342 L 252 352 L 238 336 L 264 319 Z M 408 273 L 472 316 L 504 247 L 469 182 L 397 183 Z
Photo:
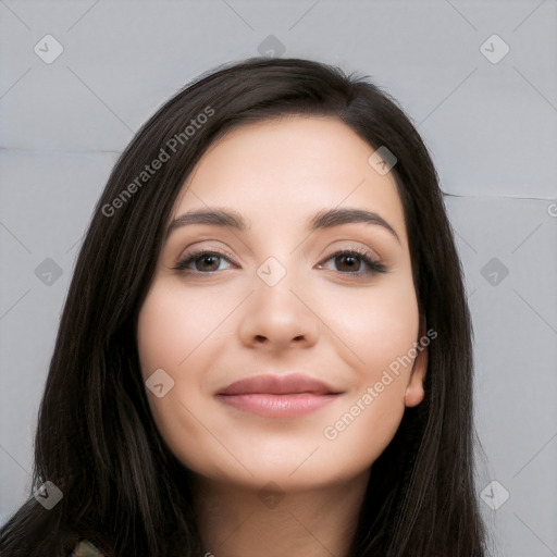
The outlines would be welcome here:
M 0 522 L 29 496 L 60 311 L 119 153 L 187 81 L 260 52 L 369 74 L 413 117 L 473 313 L 492 555 L 557 555 L 556 0 L 0 0 Z

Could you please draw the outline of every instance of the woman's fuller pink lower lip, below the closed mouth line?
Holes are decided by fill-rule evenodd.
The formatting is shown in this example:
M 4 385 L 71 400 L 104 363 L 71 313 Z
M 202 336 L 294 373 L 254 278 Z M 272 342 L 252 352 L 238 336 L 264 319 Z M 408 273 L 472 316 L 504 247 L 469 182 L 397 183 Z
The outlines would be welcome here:
M 225 405 L 246 412 L 268 418 L 297 418 L 306 416 L 332 403 L 338 395 L 312 395 L 296 393 L 289 395 L 270 395 L 252 393 L 248 395 L 216 395 Z

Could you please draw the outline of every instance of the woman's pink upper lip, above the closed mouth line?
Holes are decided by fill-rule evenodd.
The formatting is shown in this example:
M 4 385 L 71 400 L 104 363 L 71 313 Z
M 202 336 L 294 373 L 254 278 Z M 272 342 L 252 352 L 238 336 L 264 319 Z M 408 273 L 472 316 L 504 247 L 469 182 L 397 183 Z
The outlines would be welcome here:
M 341 391 L 332 387 L 323 381 L 312 379 L 301 373 L 289 373 L 288 375 L 256 375 L 240 379 L 231 383 L 218 395 L 289 395 L 297 393 L 311 393 L 314 395 L 338 394 Z

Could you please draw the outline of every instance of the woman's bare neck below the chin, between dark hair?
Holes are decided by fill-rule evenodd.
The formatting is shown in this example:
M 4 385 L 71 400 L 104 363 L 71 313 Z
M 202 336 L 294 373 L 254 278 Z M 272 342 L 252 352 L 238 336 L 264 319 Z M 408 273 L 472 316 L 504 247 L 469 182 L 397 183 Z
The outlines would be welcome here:
M 369 470 L 348 481 L 283 492 L 256 491 L 196 476 L 194 506 L 210 557 L 346 557 Z M 274 488 L 273 488 L 274 487 Z

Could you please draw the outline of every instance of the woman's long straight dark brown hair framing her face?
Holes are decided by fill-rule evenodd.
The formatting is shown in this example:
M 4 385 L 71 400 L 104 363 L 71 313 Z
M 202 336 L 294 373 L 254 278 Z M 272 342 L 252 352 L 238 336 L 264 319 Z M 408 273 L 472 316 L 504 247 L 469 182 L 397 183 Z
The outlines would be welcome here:
M 113 169 L 75 265 L 38 417 L 32 493 L 50 481 L 63 498 L 46 510 L 29 497 L 0 532 L 3 556 L 65 556 L 78 537 L 120 557 L 202 555 L 187 471 L 149 410 L 137 315 L 196 162 L 235 126 L 290 114 L 338 117 L 396 156 L 392 172 L 419 310 L 437 333 L 428 347 L 425 397 L 406 409 L 373 463 L 349 555 L 484 555 L 473 474 L 472 325 L 428 149 L 398 103 L 367 76 L 308 60 L 252 58 L 188 84 Z

